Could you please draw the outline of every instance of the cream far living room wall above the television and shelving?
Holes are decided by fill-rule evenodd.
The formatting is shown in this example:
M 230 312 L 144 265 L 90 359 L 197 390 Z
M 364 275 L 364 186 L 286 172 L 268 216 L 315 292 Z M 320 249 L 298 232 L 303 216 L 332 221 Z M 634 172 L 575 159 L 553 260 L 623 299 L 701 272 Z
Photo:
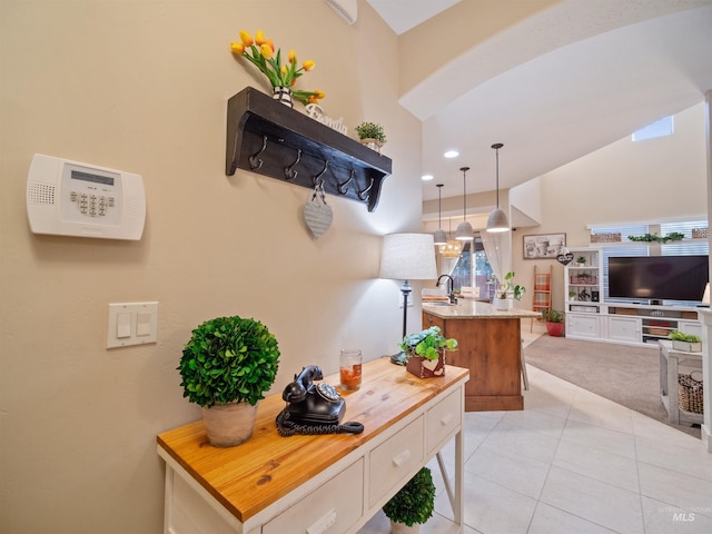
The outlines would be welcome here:
M 706 217 L 704 105 L 674 117 L 673 136 L 613 142 L 541 177 L 542 224 L 513 233 L 516 279 L 533 286 L 534 265 L 554 265 L 553 305 L 563 309 L 563 266 L 524 260 L 523 236 L 565 233 L 568 247 L 590 246 L 587 225 Z M 522 300 L 531 308 L 532 293 Z

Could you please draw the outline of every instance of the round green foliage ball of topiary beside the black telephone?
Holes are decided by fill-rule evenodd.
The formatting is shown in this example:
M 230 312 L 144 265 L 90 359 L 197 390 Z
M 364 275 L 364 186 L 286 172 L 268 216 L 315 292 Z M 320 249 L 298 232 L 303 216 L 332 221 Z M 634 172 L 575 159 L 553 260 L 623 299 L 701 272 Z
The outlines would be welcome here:
M 267 327 L 238 316 L 207 320 L 192 330 L 178 370 L 184 397 L 200 406 L 265 398 L 277 377 L 279 347 Z

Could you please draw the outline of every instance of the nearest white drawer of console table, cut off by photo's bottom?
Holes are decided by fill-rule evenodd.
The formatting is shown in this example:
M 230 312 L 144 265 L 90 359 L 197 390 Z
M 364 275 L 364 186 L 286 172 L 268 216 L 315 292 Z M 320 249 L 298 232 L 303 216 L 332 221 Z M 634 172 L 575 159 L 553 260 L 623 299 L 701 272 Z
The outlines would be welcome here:
M 263 526 L 263 534 L 346 532 L 364 513 L 363 481 L 364 459 L 359 458 Z

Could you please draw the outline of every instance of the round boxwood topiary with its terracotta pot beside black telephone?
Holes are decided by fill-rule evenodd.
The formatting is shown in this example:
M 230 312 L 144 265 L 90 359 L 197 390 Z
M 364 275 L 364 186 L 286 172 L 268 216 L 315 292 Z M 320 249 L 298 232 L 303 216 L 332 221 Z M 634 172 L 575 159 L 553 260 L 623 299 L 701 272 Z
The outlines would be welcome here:
M 279 367 L 269 329 L 251 318 L 217 317 L 192 330 L 178 370 L 184 397 L 202 407 L 208 442 L 233 447 L 253 435 L 257 403 Z

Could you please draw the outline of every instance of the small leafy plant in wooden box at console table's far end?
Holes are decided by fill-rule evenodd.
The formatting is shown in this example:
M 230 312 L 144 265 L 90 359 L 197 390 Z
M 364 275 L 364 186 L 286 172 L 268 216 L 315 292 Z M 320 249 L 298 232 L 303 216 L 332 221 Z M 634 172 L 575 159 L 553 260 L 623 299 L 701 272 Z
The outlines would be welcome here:
M 419 378 L 445 375 L 445 352 L 457 347 L 457 339 L 446 338 L 439 326 L 408 334 L 398 344 L 406 357 L 405 368 Z

